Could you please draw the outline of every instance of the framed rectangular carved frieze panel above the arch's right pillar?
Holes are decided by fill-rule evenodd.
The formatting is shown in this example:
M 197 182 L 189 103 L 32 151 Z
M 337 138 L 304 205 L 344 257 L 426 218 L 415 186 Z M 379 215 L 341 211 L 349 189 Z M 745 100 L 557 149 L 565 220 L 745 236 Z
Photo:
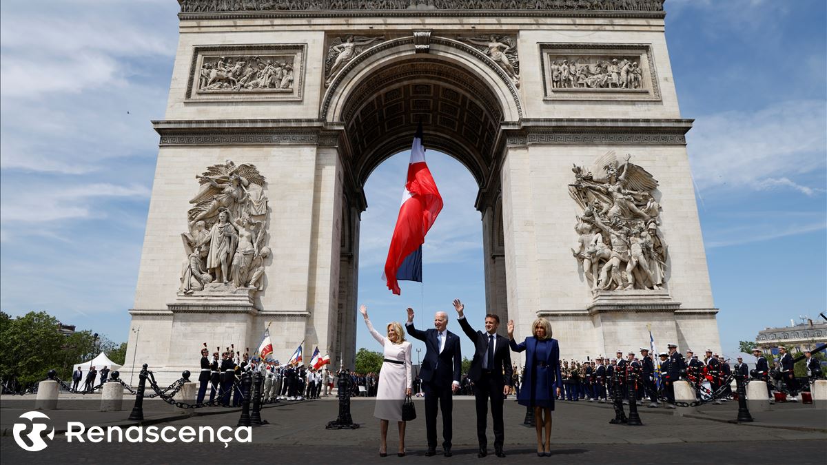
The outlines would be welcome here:
M 648 44 L 540 44 L 550 100 L 660 100 Z

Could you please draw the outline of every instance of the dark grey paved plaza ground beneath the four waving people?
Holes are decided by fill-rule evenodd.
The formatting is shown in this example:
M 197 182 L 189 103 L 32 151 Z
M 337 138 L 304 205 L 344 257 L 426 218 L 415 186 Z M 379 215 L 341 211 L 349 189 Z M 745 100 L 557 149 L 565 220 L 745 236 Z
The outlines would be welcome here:
M 198 463 L 236 463 L 240 460 L 270 460 L 286 463 L 377 463 L 407 461 L 409 463 L 470 463 L 476 461 L 476 417 L 473 399 L 458 396 L 454 401 L 454 457 L 424 457 L 424 419 L 410 422 L 407 432 L 408 457 L 395 456 L 396 443 L 390 440 L 388 458 L 377 453 L 379 424 L 372 417 L 373 400 L 354 399 L 351 413 L 359 429 L 327 430 L 324 425 L 335 419 L 337 403 L 332 399 L 305 402 L 282 402 L 262 410 L 262 418 L 270 424 L 256 427 L 252 443 L 166 444 L 68 444 L 60 434 L 67 420 L 83 418 L 88 425 L 102 426 L 135 424 L 125 419 L 131 410 L 99 413 L 93 405 L 96 400 L 65 400 L 61 410 L 45 411 L 53 420 L 57 435 L 50 446 L 39 453 L 27 453 L 18 448 L 11 435 L 12 423 L 24 410 L 15 409 L 20 400 L 3 398 L 2 444 L 3 462 L 28 463 L 73 462 L 100 463 L 164 463 L 170 460 L 198 461 Z M 22 405 L 17 405 L 22 406 Z M 69 409 L 87 409 L 69 410 Z M 417 400 L 417 410 L 423 417 L 423 400 Z M 505 405 L 506 458 L 491 455 L 485 460 L 496 463 L 526 463 L 528 461 L 555 463 L 730 463 L 746 457 L 784 457 L 786 462 L 821 463 L 827 447 L 827 415 L 814 405 L 775 405 L 769 412 L 753 414 L 753 424 L 730 424 L 737 414 L 737 404 L 707 405 L 697 412 L 678 410 L 675 415 L 667 410 L 641 410 L 643 426 L 614 426 L 608 420 L 613 416 L 609 405 L 587 402 L 559 402 L 554 415 L 552 431 L 552 458 L 538 458 L 533 453 L 534 431 L 522 425 L 525 410 L 513 400 Z M 149 400 L 145 406 L 145 424 L 158 426 L 184 425 L 235 426 L 239 410 L 201 409 L 190 417 L 173 413 L 168 405 Z M 158 423 L 156 423 L 158 422 Z M 438 423 L 438 422 L 437 422 Z M 493 433 L 489 431 L 490 442 Z M 489 447 L 492 448 L 491 444 Z M 493 449 L 490 449 L 493 452 Z

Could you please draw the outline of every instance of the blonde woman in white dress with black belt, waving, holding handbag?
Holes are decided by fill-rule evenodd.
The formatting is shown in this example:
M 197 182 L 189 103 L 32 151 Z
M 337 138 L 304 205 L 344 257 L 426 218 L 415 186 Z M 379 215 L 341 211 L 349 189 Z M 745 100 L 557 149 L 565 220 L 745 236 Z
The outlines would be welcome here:
M 379 386 L 376 391 L 376 407 L 373 416 L 380 419 L 382 432 L 379 455 L 388 455 L 388 422 L 394 420 L 399 424 L 399 457 L 405 455 L 405 422 L 402 421 L 402 405 L 405 396 L 411 395 L 411 343 L 405 341 L 405 332 L 402 325 L 388 324 L 387 337 L 377 333 L 367 317 L 367 307 L 361 305 L 359 312 L 365 319 L 370 335 L 382 344 L 385 349 L 385 362 L 379 372 Z

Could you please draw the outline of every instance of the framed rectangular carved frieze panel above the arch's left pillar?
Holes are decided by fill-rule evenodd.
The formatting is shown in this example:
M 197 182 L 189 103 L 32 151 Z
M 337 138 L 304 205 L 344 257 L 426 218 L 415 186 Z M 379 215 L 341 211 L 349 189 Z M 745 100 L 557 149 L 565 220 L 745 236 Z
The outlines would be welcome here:
M 305 44 L 196 46 L 187 100 L 301 100 Z

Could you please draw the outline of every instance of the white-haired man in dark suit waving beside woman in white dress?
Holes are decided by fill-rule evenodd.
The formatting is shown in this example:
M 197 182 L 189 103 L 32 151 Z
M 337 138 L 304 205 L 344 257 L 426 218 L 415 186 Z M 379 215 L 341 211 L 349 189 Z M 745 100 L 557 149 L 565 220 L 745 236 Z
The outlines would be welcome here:
M 421 331 L 414 328 L 414 309 L 408 309 L 405 328 L 412 338 L 425 343 L 425 358 L 419 371 L 425 392 L 425 427 L 428 429 L 430 457 L 437 453 L 437 402 L 442 409 L 442 448 L 445 457 L 451 457 L 452 410 L 454 392 L 460 388 L 462 352 L 460 338 L 447 330 L 448 314 L 437 312 L 433 316 L 433 329 Z

